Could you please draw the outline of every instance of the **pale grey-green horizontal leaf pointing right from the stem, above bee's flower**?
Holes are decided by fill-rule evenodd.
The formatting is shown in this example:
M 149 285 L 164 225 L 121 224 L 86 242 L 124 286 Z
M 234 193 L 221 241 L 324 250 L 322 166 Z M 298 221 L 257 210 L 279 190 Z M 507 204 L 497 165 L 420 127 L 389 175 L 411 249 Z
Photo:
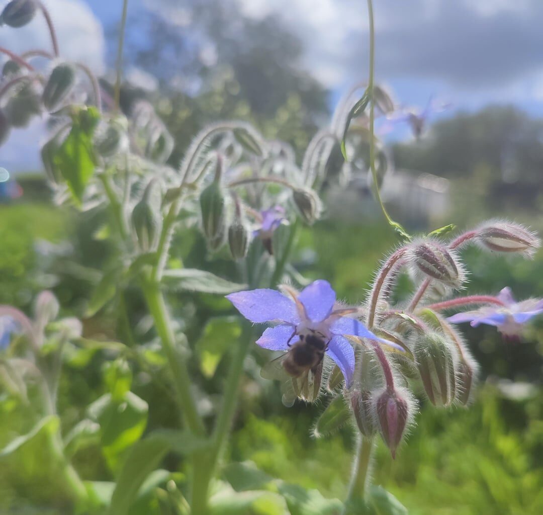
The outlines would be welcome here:
M 204 270 L 195 268 L 178 268 L 167 270 L 162 276 L 163 282 L 173 290 L 217 293 L 226 295 L 247 288 L 246 284 L 238 284 Z

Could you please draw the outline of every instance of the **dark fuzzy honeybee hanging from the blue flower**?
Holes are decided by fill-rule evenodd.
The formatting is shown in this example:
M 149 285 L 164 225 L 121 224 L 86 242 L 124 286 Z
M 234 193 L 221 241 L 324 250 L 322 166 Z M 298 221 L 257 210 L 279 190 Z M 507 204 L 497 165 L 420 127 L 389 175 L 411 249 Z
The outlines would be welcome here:
M 291 336 L 291 340 L 296 336 Z M 324 353 L 328 348 L 326 336 L 310 330 L 298 335 L 285 354 L 269 361 L 262 367 L 264 379 L 282 380 L 283 404 L 292 406 L 296 397 L 312 403 L 319 394 L 323 376 Z

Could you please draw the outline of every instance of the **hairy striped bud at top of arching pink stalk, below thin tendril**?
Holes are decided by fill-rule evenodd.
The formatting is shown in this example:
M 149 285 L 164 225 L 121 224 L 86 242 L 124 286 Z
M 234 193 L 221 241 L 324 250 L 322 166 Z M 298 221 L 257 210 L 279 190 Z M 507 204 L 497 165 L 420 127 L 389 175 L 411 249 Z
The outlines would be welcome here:
M 427 277 L 457 288 L 464 282 L 464 271 L 456 254 L 433 241 L 413 244 L 409 252 L 413 265 Z

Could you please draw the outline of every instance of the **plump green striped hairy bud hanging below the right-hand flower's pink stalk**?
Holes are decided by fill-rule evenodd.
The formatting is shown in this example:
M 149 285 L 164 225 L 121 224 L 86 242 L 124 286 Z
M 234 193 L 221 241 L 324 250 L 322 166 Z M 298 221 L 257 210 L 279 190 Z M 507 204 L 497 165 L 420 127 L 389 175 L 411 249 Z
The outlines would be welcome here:
M 418 337 L 413 355 L 428 399 L 435 406 L 449 406 L 456 392 L 456 351 L 437 332 Z

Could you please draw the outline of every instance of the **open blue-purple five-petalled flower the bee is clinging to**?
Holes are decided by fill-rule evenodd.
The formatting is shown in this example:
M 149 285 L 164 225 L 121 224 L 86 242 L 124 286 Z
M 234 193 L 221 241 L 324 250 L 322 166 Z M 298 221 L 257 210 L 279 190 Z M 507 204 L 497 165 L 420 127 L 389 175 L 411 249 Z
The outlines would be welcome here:
M 342 316 L 345 310 L 334 310 L 336 292 L 328 281 L 312 282 L 295 298 L 268 288 L 231 293 L 226 298 L 251 322 L 279 322 L 266 329 L 256 341 L 264 349 L 289 350 L 292 344 L 308 335 L 322 336 L 325 352 L 342 371 L 346 385 L 350 384 L 355 370 L 355 353 L 344 335 L 370 338 L 398 347 L 375 336 L 354 318 Z

